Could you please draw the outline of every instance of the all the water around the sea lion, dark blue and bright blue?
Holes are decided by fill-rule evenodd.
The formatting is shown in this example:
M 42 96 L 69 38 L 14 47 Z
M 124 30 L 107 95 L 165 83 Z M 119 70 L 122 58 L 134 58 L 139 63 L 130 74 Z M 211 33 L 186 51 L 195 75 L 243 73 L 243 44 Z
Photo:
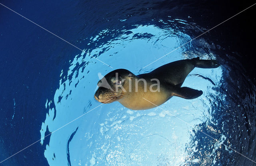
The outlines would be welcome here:
M 139 74 L 196 56 L 221 63 L 186 79 L 204 91 L 198 99 L 172 99 L 167 112 L 102 105 L 12 156 L 97 107 L 96 83 L 113 69 L 0 6 L 0 162 L 12 156 L 0 165 L 255 165 L 244 157 L 256 160 L 255 6 L 142 69 L 253 3 L 0 3 L 114 69 Z

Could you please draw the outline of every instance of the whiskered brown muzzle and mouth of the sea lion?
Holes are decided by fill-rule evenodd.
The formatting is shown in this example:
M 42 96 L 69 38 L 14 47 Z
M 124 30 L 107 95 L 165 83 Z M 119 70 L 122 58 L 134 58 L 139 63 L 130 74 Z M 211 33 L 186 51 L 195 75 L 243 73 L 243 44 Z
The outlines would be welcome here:
M 111 89 L 107 89 L 104 87 L 99 87 L 99 89 L 95 92 L 94 98 L 100 103 L 112 103 L 121 99 L 124 95 L 122 92 L 112 91 Z

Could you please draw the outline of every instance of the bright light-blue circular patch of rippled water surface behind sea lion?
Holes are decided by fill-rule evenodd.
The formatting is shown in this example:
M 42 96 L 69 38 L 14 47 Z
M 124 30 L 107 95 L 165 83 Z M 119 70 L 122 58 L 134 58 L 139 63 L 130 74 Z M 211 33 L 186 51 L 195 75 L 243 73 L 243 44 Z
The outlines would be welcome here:
M 169 22 L 188 25 L 185 20 Z M 102 42 L 106 36 L 113 38 Z M 134 25 L 132 29 L 124 26 L 120 30 L 105 29 L 90 37 L 84 51 L 114 69 L 124 68 L 135 74 L 196 56 L 222 60 L 210 51 L 212 46 L 200 38 L 142 68 L 191 39 L 171 26 Z M 95 48 L 90 49 L 90 45 Z M 237 155 L 234 152 L 237 144 L 240 144 L 239 148 L 247 148 L 243 144 L 247 144 L 249 138 L 242 133 L 249 132 L 246 126 L 250 122 L 245 113 L 241 115 L 243 111 L 238 111 L 244 106 L 230 100 L 232 90 L 227 87 L 230 86 L 226 82 L 227 71 L 223 69 L 225 66 L 196 68 L 188 75 L 183 86 L 204 91 L 197 99 L 173 97 L 160 108 L 145 111 L 132 111 L 117 102 L 97 107 L 99 103 L 93 97 L 96 84 L 113 69 L 81 52 L 70 61 L 67 73 L 60 73 L 60 87 L 54 100 L 46 101 L 46 108 L 54 103 L 56 113 L 50 107 L 49 116 L 42 123 L 41 137 L 45 136 L 46 126 L 53 132 L 88 114 L 52 134 L 44 155 L 50 165 L 164 166 L 234 162 L 232 157 Z M 234 121 L 238 123 L 234 125 Z

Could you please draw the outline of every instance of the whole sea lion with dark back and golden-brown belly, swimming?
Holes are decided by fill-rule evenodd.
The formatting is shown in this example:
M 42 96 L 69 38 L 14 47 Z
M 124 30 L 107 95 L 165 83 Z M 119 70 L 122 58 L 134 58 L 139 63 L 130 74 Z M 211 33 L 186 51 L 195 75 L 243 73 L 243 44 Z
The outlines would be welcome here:
M 157 107 L 172 96 L 195 99 L 203 92 L 181 87 L 187 75 L 195 67 L 216 68 L 219 67 L 219 63 L 216 60 L 202 60 L 197 57 L 174 61 L 140 75 L 134 75 L 126 69 L 116 69 L 98 82 L 99 88 L 94 98 L 101 103 L 118 101 L 132 110 Z

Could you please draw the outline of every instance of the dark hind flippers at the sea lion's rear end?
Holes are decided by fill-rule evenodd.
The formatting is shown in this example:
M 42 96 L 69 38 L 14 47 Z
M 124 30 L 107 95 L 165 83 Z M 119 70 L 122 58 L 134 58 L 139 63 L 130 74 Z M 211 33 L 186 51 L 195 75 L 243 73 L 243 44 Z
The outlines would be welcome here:
M 211 68 L 217 68 L 220 66 L 217 60 L 203 60 L 199 59 L 199 57 L 191 59 L 194 61 L 195 67 L 204 68 L 204 69 L 211 69 Z

